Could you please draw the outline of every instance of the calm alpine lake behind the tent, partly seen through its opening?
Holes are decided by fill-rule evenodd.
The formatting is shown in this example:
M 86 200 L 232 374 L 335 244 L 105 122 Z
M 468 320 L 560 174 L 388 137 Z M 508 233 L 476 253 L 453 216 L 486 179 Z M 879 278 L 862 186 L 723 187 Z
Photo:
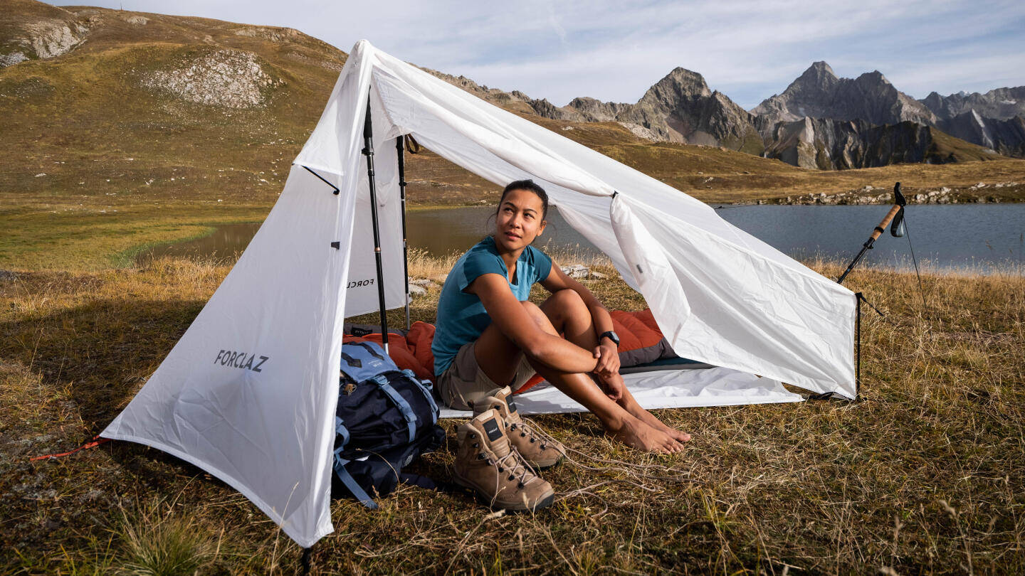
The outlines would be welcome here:
M 410 210 L 406 215 L 409 246 L 436 255 L 463 252 L 491 231 L 494 209 L 473 206 Z M 798 260 L 822 258 L 846 263 L 858 253 L 889 209 L 889 205 L 727 205 L 716 213 Z M 560 216 L 558 208 L 549 210 L 547 219 L 548 225 L 535 242 L 536 247 L 584 258 L 598 255 L 598 250 Z M 924 270 L 1025 274 L 1025 204 L 910 205 L 905 208 L 905 222 L 904 238 L 894 238 L 888 230 L 859 266 L 911 270 L 913 247 L 914 257 Z M 210 236 L 156 246 L 137 258 L 234 258 L 245 250 L 259 227 L 218 227 Z M 440 235 L 439 230 L 448 234 Z

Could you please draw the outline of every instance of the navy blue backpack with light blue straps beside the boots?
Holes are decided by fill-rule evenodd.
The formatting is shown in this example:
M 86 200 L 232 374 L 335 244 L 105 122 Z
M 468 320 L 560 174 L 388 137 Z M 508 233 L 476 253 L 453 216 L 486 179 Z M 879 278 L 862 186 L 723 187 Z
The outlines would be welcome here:
M 438 414 L 429 381 L 400 370 L 374 342 L 342 344 L 334 420 L 338 481 L 369 508 L 377 507 L 371 494 L 389 494 L 400 482 L 434 488 L 402 468 L 441 446 Z

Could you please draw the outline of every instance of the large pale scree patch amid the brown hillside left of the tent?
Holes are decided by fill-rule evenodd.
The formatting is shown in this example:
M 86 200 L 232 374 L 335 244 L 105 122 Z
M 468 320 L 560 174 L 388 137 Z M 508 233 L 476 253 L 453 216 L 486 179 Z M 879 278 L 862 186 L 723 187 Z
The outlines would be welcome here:
M 256 54 L 228 49 L 142 78 L 145 86 L 186 101 L 236 109 L 263 105 L 269 89 L 283 83 L 266 73 Z

